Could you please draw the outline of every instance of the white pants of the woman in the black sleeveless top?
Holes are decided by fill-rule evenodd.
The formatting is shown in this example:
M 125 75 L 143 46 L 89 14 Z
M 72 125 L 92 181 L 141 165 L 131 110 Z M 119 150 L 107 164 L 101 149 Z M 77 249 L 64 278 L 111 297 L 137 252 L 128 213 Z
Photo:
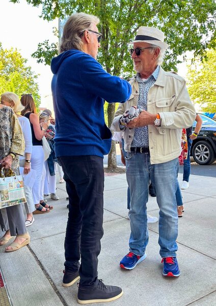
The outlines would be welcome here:
M 41 199 L 40 198 L 40 186 L 42 180 L 42 171 L 44 164 L 44 153 L 42 145 L 33 145 L 32 147 L 32 169 L 36 170 L 36 179 L 35 184 L 32 188 L 32 195 L 34 199 L 34 205 L 38 204 Z

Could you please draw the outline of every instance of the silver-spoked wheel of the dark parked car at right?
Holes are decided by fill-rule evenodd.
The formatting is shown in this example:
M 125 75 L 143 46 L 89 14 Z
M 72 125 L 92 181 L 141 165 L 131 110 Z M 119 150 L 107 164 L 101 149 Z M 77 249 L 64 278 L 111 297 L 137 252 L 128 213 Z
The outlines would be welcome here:
M 200 165 L 212 164 L 215 160 L 212 146 L 205 140 L 195 143 L 192 151 L 193 158 Z

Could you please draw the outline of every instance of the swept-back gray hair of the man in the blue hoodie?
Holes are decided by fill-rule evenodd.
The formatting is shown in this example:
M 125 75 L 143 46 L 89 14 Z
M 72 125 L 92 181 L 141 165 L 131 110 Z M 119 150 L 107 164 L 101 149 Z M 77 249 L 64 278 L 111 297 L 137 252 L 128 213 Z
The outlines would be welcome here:
M 60 53 L 70 49 L 83 51 L 83 41 L 80 38 L 84 31 L 93 24 L 99 23 L 99 18 L 85 13 L 72 14 L 65 23 L 61 39 Z

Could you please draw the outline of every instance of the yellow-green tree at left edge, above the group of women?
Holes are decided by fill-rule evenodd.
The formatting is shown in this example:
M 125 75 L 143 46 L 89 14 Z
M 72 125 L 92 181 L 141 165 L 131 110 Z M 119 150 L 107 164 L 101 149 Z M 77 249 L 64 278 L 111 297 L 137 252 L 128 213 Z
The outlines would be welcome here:
M 5 91 L 16 93 L 19 97 L 23 93 L 32 93 L 37 107 L 40 105 L 39 88 L 32 68 L 26 65 L 17 49 L 3 49 L 0 43 L 0 94 Z

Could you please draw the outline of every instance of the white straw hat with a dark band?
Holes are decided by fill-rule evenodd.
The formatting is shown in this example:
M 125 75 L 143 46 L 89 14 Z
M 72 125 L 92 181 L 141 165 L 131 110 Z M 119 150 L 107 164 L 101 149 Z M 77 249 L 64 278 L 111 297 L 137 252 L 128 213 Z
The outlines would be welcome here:
M 164 42 L 164 32 L 151 27 L 140 27 L 138 29 L 138 33 L 135 39 L 129 42 L 128 44 L 132 44 L 135 42 L 151 43 L 160 47 L 161 49 L 168 48 L 168 44 Z

